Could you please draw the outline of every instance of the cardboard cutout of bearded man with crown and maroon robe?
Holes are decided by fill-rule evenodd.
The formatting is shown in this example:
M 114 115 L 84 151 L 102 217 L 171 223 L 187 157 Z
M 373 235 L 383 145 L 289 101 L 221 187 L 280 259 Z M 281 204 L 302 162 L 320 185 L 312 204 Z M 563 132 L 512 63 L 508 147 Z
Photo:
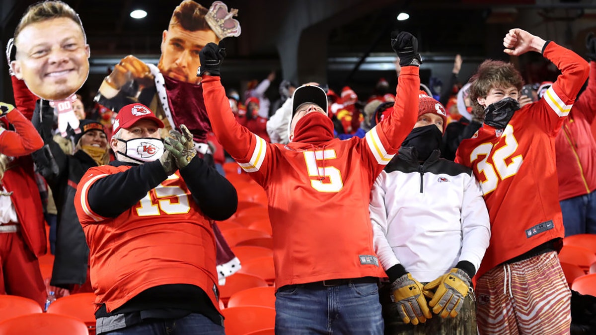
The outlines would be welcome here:
M 197 152 L 210 153 L 207 134 L 211 125 L 203 103 L 203 88 L 198 85 L 198 52 L 209 42 L 218 43 L 228 36 L 240 36 L 240 23 L 221 1 L 207 8 L 193 0 L 184 0 L 175 8 L 167 30 L 162 33 L 162 55 L 157 66 L 128 55 L 101 83 L 95 101 L 118 111 L 131 103 L 142 103 L 164 123 L 162 138 L 170 129 L 187 126 L 193 134 Z M 214 223 L 220 280 L 240 269 L 219 228 Z

